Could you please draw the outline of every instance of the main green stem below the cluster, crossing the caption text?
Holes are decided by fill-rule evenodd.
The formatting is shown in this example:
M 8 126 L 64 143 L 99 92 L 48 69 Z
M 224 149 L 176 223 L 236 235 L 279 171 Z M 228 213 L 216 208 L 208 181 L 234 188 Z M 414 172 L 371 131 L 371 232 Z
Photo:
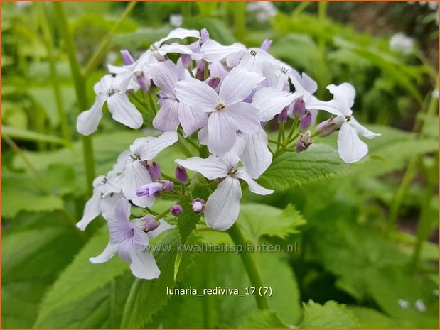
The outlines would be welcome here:
M 243 248 L 246 245 L 245 237 L 240 231 L 240 227 L 237 223 L 233 224 L 230 229 L 227 230 L 227 233 L 234 241 L 235 245 L 242 246 Z M 241 252 L 240 257 L 242 258 L 242 262 L 245 265 L 245 269 L 247 272 L 247 276 L 249 276 L 249 280 L 253 287 L 256 287 L 257 290 L 260 287 L 263 287 L 262 277 L 259 274 L 259 269 L 257 267 L 257 263 L 255 263 L 255 259 L 252 253 L 247 251 Z M 254 295 L 255 301 L 257 302 L 258 309 L 269 309 L 269 305 L 267 304 L 267 299 L 264 295 Z

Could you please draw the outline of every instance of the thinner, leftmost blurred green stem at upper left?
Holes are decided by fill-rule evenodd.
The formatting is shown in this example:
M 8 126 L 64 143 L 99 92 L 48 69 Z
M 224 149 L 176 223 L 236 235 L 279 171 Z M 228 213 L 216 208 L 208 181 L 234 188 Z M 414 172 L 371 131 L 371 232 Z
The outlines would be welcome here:
M 40 18 L 41 31 L 43 31 L 43 43 L 48 50 L 49 57 L 49 69 L 50 69 L 50 81 L 53 83 L 53 92 L 55 94 L 55 102 L 57 104 L 58 117 L 60 118 L 61 133 L 65 141 L 68 141 L 70 145 L 72 143 L 72 138 L 69 132 L 68 118 L 64 111 L 63 98 L 61 96 L 60 82 L 58 79 L 58 72 L 56 69 L 56 60 L 53 51 L 53 38 L 50 32 L 48 18 L 44 11 L 43 4 L 37 4 L 38 16 Z

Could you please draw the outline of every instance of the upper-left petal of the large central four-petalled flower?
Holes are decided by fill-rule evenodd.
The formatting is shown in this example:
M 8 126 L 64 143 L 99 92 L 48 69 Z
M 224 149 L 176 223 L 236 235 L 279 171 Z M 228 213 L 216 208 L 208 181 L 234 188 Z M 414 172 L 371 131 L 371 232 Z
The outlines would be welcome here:
M 198 79 L 192 78 L 178 82 L 175 90 L 179 101 L 197 111 L 214 111 L 220 100 L 214 89 Z

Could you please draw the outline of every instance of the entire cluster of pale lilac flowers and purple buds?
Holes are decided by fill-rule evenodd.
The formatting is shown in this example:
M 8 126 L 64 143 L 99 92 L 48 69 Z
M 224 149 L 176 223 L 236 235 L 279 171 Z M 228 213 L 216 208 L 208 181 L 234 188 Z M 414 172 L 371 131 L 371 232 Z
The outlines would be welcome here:
M 112 171 L 95 180 L 93 196 L 77 224 L 84 230 L 99 214 L 108 221 L 109 245 L 102 255 L 90 259 L 93 263 L 104 262 L 118 251 L 136 277 L 157 277 L 159 269 L 147 247 L 149 238 L 172 227 L 162 219 L 168 213 L 180 216 L 188 207 L 203 215 L 211 228 L 225 231 L 237 220 L 243 184 L 255 194 L 273 192 L 255 180 L 281 153 L 304 152 L 315 136 L 338 131 L 338 152 L 346 163 L 367 154 L 367 145 L 358 135 L 374 138 L 378 134 L 353 117 L 355 89 L 348 83 L 331 84 L 327 88 L 333 99 L 317 99 L 313 95 L 316 82 L 269 55 L 271 43 L 264 40 L 261 48 L 246 48 L 240 43 L 220 45 L 205 29 L 178 28 L 151 45 L 138 60 L 122 50 L 124 66 L 109 65 L 111 74 L 95 85 L 95 104 L 80 114 L 77 130 L 85 135 L 95 132 L 106 102 L 115 121 L 141 128 L 146 118 L 132 99 L 140 93 L 156 99 L 159 111 L 156 104 L 144 111 L 154 116 L 149 125 L 163 133 L 136 139 L 119 155 Z M 171 53 L 177 53 L 178 60 L 170 60 Z M 328 113 L 329 118 L 311 133 L 318 111 Z M 275 117 L 279 138 L 270 140 L 274 143 L 271 149 L 264 126 Z M 291 128 L 284 131 L 289 118 Z M 175 160 L 178 166 L 172 177 L 161 172 L 154 158 L 177 141 L 200 153 Z M 186 170 L 198 172 L 206 180 L 200 175 L 188 178 Z M 181 205 L 192 196 L 194 180 L 203 180 L 213 192 L 206 202 L 193 196 L 191 205 Z M 181 194 L 176 194 L 178 204 L 161 215 L 129 221 L 131 204 L 151 213 L 148 208 L 155 199 L 171 192 L 175 185 L 182 187 Z

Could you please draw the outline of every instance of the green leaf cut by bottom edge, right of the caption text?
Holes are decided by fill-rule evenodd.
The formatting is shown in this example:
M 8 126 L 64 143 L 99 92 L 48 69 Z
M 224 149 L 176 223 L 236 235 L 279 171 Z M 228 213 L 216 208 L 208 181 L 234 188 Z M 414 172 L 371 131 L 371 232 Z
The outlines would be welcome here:
M 336 302 L 326 302 L 321 305 L 312 301 L 304 304 L 304 318 L 299 325 L 304 329 L 347 329 L 358 328 L 358 326 L 358 319 L 345 305 Z

